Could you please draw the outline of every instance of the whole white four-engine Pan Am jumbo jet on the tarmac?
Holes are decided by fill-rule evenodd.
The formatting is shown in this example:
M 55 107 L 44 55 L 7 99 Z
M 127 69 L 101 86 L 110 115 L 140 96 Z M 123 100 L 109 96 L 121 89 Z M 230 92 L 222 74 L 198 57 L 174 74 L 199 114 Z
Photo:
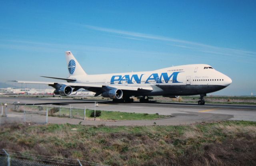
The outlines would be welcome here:
M 204 96 L 226 88 L 232 80 L 208 64 L 188 64 L 172 66 L 146 72 L 126 72 L 114 74 L 87 74 L 70 51 L 66 51 L 69 71 L 68 78 L 42 76 L 66 82 L 15 81 L 25 84 L 48 84 L 55 88 L 54 94 L 70 96 L 80 88 L 95 92 L 113 102 L 133 102 L 131 96 L 148 102 L 148 96 L 200 95 L 198 105 L 204 105 Z M 147 97 L 147 98 L 146 98 Z

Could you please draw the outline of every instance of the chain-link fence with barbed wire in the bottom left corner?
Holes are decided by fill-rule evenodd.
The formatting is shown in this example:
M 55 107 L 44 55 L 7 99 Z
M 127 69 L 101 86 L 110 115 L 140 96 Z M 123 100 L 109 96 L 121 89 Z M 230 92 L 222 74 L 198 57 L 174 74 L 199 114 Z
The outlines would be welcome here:
M 74 158 L 60 158 L 0 150 L 0 166 L 106 166 L 96 162 Z

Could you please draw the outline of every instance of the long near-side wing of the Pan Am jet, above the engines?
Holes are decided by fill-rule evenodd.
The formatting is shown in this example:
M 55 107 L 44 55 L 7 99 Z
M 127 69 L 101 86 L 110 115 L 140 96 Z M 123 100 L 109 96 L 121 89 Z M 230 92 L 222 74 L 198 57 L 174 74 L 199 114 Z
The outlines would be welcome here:
M 76 83 L 76 82 L 39 82 L 39 81 L 13 81 L 17 83 L 23 83 L 23 84 L 48 84 L 49 86 L 52 86 L 55 88 L 57 84 L 64 84 L 67 86 L 71 86 L 72 88 L 84 88 L 84 89 L 91 89 L 92 92 L 98 92 L 101 91 L 102 88 L 108 88 L 108 89 L 120 89 L 120 90 L 144 90 L 144 91 L 152 91 L 153 88 L 150 85 L 140 85 L 140 86 L 125 86 L 125 85 L 104 85 L 104 84 L 87 84 L 87 83 Z

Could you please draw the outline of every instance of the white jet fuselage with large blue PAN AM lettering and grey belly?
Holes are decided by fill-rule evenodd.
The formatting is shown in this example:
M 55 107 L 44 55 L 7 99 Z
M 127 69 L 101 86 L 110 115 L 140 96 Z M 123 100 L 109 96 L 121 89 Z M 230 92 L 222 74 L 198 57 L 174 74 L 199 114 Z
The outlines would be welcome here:
M 232 80 L 207 64 L 174 66 L 147 72 L 128 72 L 114 74 L 96 74 L 70 76 L 77 83 L 152 86 L 152 92 L 130 94 L 141 95 L 193 95 L 206 94 L 225 88 Z

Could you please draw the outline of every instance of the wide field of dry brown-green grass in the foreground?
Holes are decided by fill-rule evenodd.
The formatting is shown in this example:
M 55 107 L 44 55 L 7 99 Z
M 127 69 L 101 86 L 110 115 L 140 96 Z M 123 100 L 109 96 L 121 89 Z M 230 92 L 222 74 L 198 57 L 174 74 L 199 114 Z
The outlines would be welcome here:
M 72 129 L 76 130 L 72 130 Z M 13 124 L 0 148 L 115 166 L 256 165 L 256 122 L 108 127 Z

